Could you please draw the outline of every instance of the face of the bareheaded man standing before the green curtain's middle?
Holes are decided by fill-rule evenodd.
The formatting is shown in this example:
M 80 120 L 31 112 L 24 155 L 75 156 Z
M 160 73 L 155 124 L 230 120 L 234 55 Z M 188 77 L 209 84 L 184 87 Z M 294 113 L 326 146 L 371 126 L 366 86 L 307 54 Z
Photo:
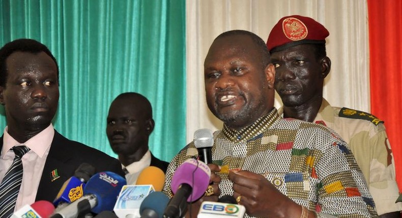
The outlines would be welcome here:
M 125 166 L 139 161 L 148 151 L 148 138 L 154 129 L 154 120 L 145 116 L 140 102 L 133 101 L 115 99 L 107 116 L 107 138 Z

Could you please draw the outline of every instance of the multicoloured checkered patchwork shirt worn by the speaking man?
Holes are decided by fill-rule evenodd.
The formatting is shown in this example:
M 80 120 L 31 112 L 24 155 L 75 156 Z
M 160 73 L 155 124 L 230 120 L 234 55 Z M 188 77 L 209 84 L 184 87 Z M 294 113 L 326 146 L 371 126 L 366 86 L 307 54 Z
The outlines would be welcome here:
M 195 156 L 191 142 L 170 162 L 163 189 L 170 197 L 176 168 Z M 274 109 L 239 131 L 224 126 L 214 132 L 212 159 L 221 166 L 221 196 L 233 195 L 228 171 L 241 169 L 264 175 L 318 217 L 378 217 L 348 144 L 325 126 L 282 119 Z

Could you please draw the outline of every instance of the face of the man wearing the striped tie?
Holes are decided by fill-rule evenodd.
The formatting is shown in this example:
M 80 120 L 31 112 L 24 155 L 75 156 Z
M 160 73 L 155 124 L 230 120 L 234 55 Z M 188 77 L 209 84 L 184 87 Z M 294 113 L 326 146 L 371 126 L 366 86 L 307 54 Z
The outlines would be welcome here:
M 6 60 L 8 78 L 0 86 L 8 133 L 23 143 L 48 127 L 59 102 L 57 66 L 44 52 L 14 52 Z

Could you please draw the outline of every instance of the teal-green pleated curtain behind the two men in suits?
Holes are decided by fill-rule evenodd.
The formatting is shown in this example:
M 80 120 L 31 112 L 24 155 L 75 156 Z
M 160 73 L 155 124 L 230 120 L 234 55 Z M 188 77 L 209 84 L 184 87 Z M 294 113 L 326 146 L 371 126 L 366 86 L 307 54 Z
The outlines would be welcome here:
M 58 60 L 56 130 L 117 157 L 106 137 L 108 108 L 133 91 L 153 106 L 154 155 L 170 161 L 185 146 L 185 0 L 1 0 L 0 7 L 2 46 L 31 38 Z M 1 132 L 4 107 L 2 114 Z

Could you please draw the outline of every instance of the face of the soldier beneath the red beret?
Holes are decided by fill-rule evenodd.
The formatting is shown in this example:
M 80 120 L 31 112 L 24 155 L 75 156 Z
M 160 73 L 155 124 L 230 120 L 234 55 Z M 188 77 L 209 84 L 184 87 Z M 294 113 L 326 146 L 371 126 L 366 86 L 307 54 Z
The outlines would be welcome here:
M 331 68 L 328 57 L 317 58 L 311 44 L 271 54 L 275 90 L 284 105 L 284 117 L 312 122 L 320 109 L 324 79 Z

